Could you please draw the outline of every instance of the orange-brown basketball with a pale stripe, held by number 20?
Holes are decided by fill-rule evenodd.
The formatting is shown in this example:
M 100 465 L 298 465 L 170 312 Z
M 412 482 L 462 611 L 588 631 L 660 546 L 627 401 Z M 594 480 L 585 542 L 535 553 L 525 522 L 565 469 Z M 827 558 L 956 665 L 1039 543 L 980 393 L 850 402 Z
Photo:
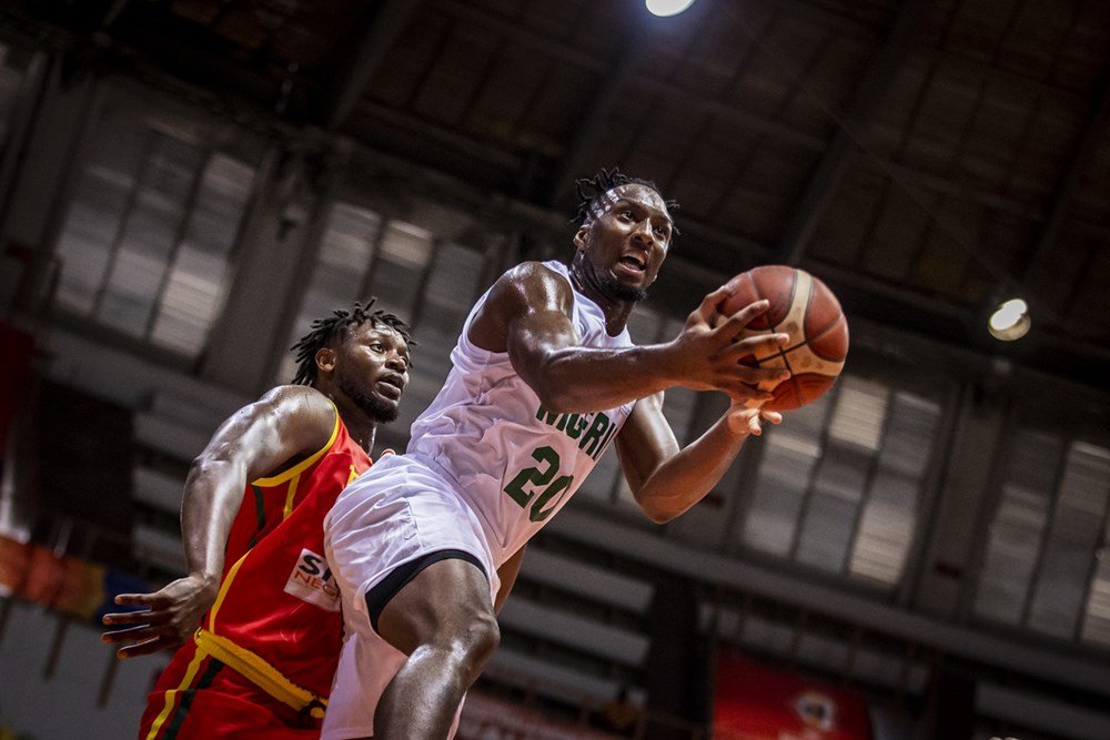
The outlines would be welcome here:
M 758 384 L 760 391 L 775 396 L 763 408 L 799 408 L 833 387 L 848 356 L 848 321 L 825 283 L 804 270 L 765 265 L 740 273 L 728 285 L 733 294 L 720 306 L 725 315 L 756 301 L 770 301 L 767 311 L 756 316 L 739 338 L 751 334 L 790 335 L 786 346 L 764 348 L 740 358 L 745 365 L 785 367 L 793 373 L 781 382 Z

